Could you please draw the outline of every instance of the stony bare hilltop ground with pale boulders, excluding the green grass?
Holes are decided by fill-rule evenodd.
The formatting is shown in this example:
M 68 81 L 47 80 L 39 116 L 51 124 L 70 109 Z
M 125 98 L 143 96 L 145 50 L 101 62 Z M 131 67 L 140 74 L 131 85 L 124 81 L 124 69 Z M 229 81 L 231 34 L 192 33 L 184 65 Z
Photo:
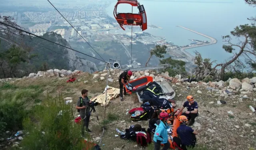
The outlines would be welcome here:
M 92 97 L 104 91 L 106 79 L 109 81 L 109 86 L 118 88 L 118 76 L 121 72 L 113 69 L 110 72 L 107 77 L 106 70 L 88 74 L 79 70 L 72 72 L 70 70 L 54 69 L 31 73 L 28 77 L 22 79 L 1 79 L 0 85 L 10 83 L 15 86 L 40 86 L 44 84 L 44 86 L 40 86 L 44 93 L 47 91 L 50 94 L 56 94 L 61 90 L 64 97 L 73 99 L 75 105 L 82 87 L 89 89 Z M 68 77 L 72 75 L 76 76 L 76 82 L 66 83 Z M 168 81 L 176 92 L 174 100 L 176 100 L 177 108 L 186 101 L 187 95 L 193 95 L 196 98 L 199 105 L 199 116 L 192 128 L 199 131 L 197 136 L 198 145 L 206 147 L 207 150 L 248 150 L 249 148 L 256 148 L 256 114 L 249 109 L 249 106 L 256 107 L 256 77 L 243 80 L 230 78 L 227 81 L 189 83 L 184 82 L 180 75 L 170 77 L 168 72 L 158 74 L 154 70 L 145 70 L 133 72 L 131 79 L 142 76 L 152 76 L 157 82 Z M 116 128 L 123 130 L 135 123 L 131 122 L 127 112 L 139 106 L 140 102 L 138 102 L 136 94 L 125 96 L 123 102 L 120 102 L 118 97 L 108 104 L 106 113 L 109 116 L 115 116 L 114 119 L 113 117 L 112 120 L 109 119 L 108 123 L 116 124 L 104 132 L 102 149 L 140 150 L 140 146 L 137 146 L 136 143 L 121 140 L 114 136 L 117 134 Z M 98 112 L 100 122 L 102 122 L 104 107 L 97 106 L 96 112 Z M 91 136 L 97 141 L 102 131 L 99 129 L 96 115 L 92 114 L 91 117 L 90 128 L 93 130 Z M 147 121 L 136 123 L 141 124 L 143 128 L 148 127 Z M 16 144 L 18 146 L 17 140 L 12 140 L 12 145 Z M 146 149 L 153 150 L 152 146 Z

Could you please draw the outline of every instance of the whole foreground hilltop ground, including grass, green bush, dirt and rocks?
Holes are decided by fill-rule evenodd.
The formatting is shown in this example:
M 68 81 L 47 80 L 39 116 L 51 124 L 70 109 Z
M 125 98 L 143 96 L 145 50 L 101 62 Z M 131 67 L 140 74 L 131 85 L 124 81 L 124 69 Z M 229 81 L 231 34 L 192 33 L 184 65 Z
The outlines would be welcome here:
M 106 79 L 112 78 L 113 82 L 109 81 L 108 86 L 118 88 L 117 80 L 121 72 L 112 69 L 110 72 L 112 77 L 107 78 L 106 71 L 99 72 L 98 75 L 76 71 L 72 73 L 77 78 L 73 83 L 66 82 L 67 76 L 63 78 L 40 77 L 35 74 L 22 79 L 2 79 L 0 82 L 2 100 L 0 103 L 2 122 L 0 134 L 3 139 L 1 140 L 13 136 L 18 130 L 22 130 L 25 135 L 22 139 L 14 138 L 2 142 L 1 147 L 7 148 L 9 144 L 9 146 L 20 147 L 24 150 L 72 149 L 70 145 L 77 146 L 73 149 L 81 148 L 80 126 L 74 123 L 74 118 L 78 115 L 75 109 L 76 101 L 83 88 L 89 90 L 91 98 L 101 94 L 106 87 Z M 47 75 L 44 72 L 39 74 Z M 246 78 L 242 81 L 229 79 L 226 82 L 189 83 L 184 82 L 182 78 L 169 77 L 168 72 L 157 74 L 154 70 L 134 72 L 132 78 L 142 76 L 152 76 L 157 82 L 171 81 L 170 85 L 176 92 L 174 99 L 178 105 L 177 108 L 182 105 L 187 95 L 193 95 L 196 98 L 199 116 L 192 128 L 199 131 L 198 149 L 246 150 L 256 148 L 256 116 L 248 107 L 256 106 L 256 99 L 254 99 L 256 78 Z M 231 93 L 227 94 L 225 90 Z M 72 104 L 64 104 L 66 97 L 72 98 Z M 118 150 L 122 147 L 124 150 L 141 149 L 134 142 L 121 140 L 114 136 L 117 134 L 116 128 L 123 130 L 135 123 L 148 128 L 148 121 L 131 122 L 129 114 L 126 115 L 128 110 L 139 107 L 141 104 L 136 94 L 125 96 L 124 99 L 121 102 L 118 97 L 106 107 L 105 124 L 109 126 L 102 137 L 100 145 L 102 150 Z M 226 104 L 221 104 L 219 100 L 224 100 Z M 58 115 L 60 110 L 64 113 L 63 117 Z M 97 114 L 99 121 L 96 118 Z M 100 126 L 103 125 L 103 120 L 104 106 L 98 105 L 90 119 L 89 127 L 93 132 L 88 136 L 98 143 L 102 135 Z M 59 133 L 62 135 L 60 138 L 58 138 Z M 228 140 L 226 140 L 227 137 Z M 31 145 L 31 143 L 34 144 Z M 153 144 L 150 144 L 146 150 L 153 150 L 153 148 Z

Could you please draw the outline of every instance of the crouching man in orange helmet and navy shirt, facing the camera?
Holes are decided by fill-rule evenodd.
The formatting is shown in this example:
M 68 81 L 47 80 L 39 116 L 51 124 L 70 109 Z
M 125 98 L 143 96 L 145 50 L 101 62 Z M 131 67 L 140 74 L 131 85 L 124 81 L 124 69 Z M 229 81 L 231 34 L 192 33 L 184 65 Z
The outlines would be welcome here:
M 182 112 L 184 108 L 187 108 L 186 112 L 183 112 L 182 115 L 188 117 L 188 120 L 190 123 L 188 126 L 192 126 L 195 122 L 195 118 L 198 116 L 198 104 L 196 101 L 194 101 L 194 97 L 189 95 L 187 96 L 187 101 L 184 102 L 183 106 L 178 110 L 175 115 L 177 115 L 179 112 Z

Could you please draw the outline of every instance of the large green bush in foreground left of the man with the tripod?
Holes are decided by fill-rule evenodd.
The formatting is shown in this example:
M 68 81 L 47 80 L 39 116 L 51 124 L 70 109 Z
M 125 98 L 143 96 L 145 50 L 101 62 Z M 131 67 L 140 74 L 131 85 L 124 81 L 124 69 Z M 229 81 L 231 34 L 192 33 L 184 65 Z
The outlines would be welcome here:
M 81 126 L 74 122 L 73 106 L 62 96 L 47 97 L 34 108 L 34 115 L 24 119 L 29 134 L 22 141 L 24 150 L 82 150 Z M 90 137 L 87 135 L 87 139 Z

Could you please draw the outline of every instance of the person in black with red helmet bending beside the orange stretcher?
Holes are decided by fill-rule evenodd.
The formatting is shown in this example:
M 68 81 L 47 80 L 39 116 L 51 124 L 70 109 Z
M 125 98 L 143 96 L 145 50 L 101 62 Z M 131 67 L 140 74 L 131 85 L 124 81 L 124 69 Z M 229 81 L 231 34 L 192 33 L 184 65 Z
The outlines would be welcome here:
M 120 100 L 123 101 L 123 90 L 124 90 L 124 95 L 126 95 L 126 90 L 124 88 L 124 85 L 126 88 L 128 86 L 132 86 L 130 82 L 130 77 L 132 76 L 132 71 L 124 71 L 122 74 L 120 74 L 118 81 L 119 81 L 119 88 L 120 88 Z

